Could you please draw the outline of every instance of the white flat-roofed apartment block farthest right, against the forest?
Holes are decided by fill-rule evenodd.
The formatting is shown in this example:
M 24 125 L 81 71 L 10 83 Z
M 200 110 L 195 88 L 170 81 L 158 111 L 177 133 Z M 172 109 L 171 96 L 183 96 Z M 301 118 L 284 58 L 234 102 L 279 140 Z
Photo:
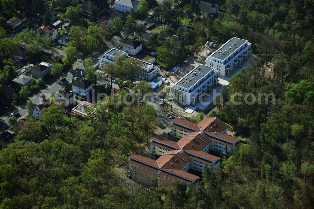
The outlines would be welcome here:
M 233 69 L 252 54 L 251 43 L 236 37 L 228 40 L 205 60 L 205 65 L 213 67 L 220 76 L 229 76 Z

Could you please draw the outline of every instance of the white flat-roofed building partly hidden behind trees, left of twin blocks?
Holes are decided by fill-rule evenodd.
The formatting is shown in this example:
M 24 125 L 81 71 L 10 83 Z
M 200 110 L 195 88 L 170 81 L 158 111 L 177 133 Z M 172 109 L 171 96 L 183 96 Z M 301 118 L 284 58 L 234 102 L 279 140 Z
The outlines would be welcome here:
M 99 57 L 99 62 L 96 64 L 98 67 L 103 67 L 105 66 L 108 62 L 115 63 L 115 57 L 117 56 L 124 56 L 124 57 L 130 57 L 128 54 L 124 51 L 112 48 L 108 52 L 106 52 L 104 55 Z M 135 58 L 134 58 L 135 59 Z M 138 60 L 138 59 L 136 59 Z M 158 68 L 154 66 L 153 64 L 150 64 L 148 62 L 144 62 L 142 60 L 138 60 L 138 67 L 141 70 L 139 78 L 140 79 L 145 79 L 147 81 L 154 80 L 154 78 L 157 77 L 158 73 Z

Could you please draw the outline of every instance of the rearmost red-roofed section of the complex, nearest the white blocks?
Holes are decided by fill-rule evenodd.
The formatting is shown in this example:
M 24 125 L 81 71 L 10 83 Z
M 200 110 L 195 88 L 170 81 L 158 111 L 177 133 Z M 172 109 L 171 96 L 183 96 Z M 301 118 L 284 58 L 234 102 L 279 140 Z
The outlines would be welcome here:
M 227 135 L 226 129 L 227 126 L 219 118 L 204 118 L 198 124 L 179 118 L 171 120 L 171 133 L 175 138 L 183 139 L 194 131 L 203 131 L 209 137 L 209 150 L 225 156 L 235 155 L 240 139 Z

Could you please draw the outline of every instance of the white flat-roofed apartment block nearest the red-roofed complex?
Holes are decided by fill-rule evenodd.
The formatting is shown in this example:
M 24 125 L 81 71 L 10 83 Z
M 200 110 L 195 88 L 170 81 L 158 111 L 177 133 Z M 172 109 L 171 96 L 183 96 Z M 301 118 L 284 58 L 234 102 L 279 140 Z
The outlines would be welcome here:
M 200 96 L 208 93 L 217 82 L 217 71 L 200 64 L 175 83 L 171 88 L 171 96 L 178 97 L 181 104 L 195 105 Z

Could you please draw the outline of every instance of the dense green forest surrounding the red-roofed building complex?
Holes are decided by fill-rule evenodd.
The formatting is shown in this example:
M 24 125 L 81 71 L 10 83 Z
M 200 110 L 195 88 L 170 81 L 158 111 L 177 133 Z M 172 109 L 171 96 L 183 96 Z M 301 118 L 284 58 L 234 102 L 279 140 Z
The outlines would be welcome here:
M 219 41 L 249 40 L 261 60 L 231 79 L 210 113 L 246 138 L 223 170 L 205 170 L 191 190 L 173 183 L 145 191 L 115 168 L 158 125 L 152 106 L 105 103 L 96 120 L 52 106 L 0 151 L 0 208 L 313 208 L 314 3 L 212 3 L 219 17 L 194 25 Z M 274 93 L 275 103 L 225 105 L 233 93 Z

